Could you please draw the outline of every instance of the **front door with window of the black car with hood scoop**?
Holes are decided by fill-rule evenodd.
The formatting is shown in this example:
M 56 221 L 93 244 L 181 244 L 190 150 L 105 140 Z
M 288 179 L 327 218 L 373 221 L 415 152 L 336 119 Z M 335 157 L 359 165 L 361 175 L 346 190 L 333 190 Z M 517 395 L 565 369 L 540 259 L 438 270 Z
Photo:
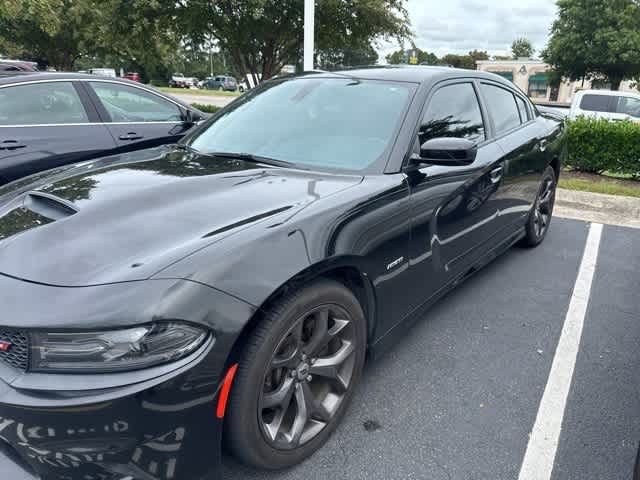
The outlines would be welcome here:
M 461 137 L 478 145 L 469 166 L 409 170 L 413 228 L 410 285 L 416 307 L 463 274 L 496 233 L 502 150 L 489 138 L 472 81 L 437 87 L 427 102 L 419 145 L 431 138 Z

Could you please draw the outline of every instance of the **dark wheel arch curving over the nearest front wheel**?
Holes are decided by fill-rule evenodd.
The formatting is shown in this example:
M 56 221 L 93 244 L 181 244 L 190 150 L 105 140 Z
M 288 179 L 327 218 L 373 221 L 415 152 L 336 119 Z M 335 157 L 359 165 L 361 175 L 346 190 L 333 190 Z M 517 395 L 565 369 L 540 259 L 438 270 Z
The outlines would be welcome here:
M 343 284 L 356 297 L 367 322 L 367 341 L 370 342 L 376 325 L 376 294 L 367 272 L 362 268 L 358 257 L 339 257 L 311 265 L 298 272 L 276 288 L 258 307 L 253 316 L 245 323 L 231 349 L 230 359 L 237 359 L 242 353 L 245 339 L 260 323 L 262 315 L 283 295 L 315 280 L 328 278 Z

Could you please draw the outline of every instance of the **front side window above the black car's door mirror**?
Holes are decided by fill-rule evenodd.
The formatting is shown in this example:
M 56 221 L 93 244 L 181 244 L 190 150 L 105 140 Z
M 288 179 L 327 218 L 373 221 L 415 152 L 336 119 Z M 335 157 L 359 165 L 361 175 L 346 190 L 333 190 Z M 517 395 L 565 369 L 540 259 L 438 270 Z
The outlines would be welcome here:
M 420 125 L 420 143 L 437 137 L 484 140 L 482 113 L 473 85 L 458 83 L 433 94 Z

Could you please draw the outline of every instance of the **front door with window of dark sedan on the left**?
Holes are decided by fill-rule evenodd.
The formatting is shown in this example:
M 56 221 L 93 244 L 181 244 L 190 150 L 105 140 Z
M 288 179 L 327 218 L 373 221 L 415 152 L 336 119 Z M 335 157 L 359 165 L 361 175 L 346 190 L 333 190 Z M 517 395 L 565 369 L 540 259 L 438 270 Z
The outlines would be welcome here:
M 86 83 L 120 151 L 175 143 L 192 128 L 184 123 L 183 107 L 150 90 L 119 82 Z

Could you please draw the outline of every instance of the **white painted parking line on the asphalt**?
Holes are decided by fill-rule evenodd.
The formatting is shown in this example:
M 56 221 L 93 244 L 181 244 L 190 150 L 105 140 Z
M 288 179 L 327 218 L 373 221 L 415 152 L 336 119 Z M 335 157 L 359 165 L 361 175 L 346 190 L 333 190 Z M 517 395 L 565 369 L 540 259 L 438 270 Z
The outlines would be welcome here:
M 551 478 L 564 409 L 580 347 L 582 327 L 589 305 L 601 237 L 602 225 L 593 223 L 589 229 L 569 310 L 564 320 L 549 379 L 538 407 L 538 415 L 529 437 L 518 480 L 549 480 Z

